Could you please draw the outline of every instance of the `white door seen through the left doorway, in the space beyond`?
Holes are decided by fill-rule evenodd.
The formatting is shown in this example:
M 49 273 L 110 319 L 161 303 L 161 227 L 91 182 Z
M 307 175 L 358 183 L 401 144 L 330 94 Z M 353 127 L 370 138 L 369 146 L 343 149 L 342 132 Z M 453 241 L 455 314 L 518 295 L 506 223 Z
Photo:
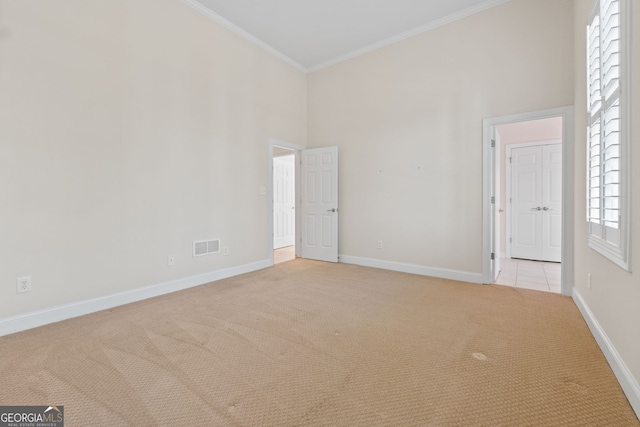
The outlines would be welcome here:
M 273 159 L 273 248 L 293 246 L 296 239 L 295 156 Z

